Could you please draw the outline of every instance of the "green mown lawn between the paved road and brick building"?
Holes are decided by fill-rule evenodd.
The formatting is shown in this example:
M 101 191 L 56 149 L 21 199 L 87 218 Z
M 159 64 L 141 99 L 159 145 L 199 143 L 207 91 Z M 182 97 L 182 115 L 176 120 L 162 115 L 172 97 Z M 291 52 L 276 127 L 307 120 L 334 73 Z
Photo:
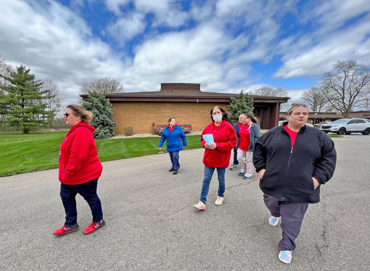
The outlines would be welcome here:
M 67 131 L 22 134 L 0 132 L 0 176 L 58 168 L 60 143 Z M 341 137 L 329 134 L 329 137 Z M 188 135 L 187 149 L 201 148 L 200 135 Z M 96 140 L 101 162 L 158 154 L 159 137 Z M 166 151 L 166 144 L 162 151 Z

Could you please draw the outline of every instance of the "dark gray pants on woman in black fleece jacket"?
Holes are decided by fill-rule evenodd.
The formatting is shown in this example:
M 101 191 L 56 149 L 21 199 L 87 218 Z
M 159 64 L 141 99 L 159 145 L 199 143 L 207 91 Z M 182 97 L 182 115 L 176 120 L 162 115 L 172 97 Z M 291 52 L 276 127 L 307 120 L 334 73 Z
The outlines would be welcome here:
M 271 215 L 281 216 L 280 227 L 283 230 L 283 238 L 279 242 L 280 249 L 294 250 L 308 203 L 282 201 L 267 194 L 263 194 L 263 200 Z

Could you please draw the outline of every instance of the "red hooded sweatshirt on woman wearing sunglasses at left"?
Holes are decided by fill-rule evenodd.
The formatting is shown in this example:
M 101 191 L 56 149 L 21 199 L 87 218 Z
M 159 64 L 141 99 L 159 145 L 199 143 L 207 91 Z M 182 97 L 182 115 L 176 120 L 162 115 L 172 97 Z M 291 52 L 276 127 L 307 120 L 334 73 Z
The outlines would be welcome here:
M 103 169 L 92 133 L 95 128 L 80 122 L 65 135 L 59 151 L 59 181 L 78 185 L 99 178 Z

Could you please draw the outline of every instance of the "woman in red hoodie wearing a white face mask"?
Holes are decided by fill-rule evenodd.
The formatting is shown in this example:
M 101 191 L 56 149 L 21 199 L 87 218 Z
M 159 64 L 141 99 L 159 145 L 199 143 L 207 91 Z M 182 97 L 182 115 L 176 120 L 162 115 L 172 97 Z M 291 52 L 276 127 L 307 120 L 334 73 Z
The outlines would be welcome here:
M 218 175 L 218 196 L 215 205 L 221 205 L 223 202 L 223 192 L 225 192 L 225 169 L 229 166 L 232 148 L 236 145 L 236 133 L 228 119 L 226 111 L 219 106 L 211 109 L 212 122 L 203 130 L 201 143 L 205 148 L 203 164 L 204 179 L 202 185 L 201 199 L 195 208 L 206 209 L 206 197 L 208 195 L 209 183 L 211 182 L 213 172 L 217 169 Z M 212 134 L 214 143 L 208 144 L 203 139 L 203 135 Z

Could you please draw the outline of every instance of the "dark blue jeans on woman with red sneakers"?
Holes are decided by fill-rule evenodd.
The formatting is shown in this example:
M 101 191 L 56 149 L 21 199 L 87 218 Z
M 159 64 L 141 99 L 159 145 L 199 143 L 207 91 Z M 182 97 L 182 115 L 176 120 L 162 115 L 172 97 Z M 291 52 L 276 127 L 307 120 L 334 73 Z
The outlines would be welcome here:
M 62 198 L 65 210 L 66 227 L 71 227 L 77 223 L 77 193 L 83 196 L 91 208 L 92 222 L 100 222 L 103 219 L 103 211 L 101 202 L 97 194 L 98 179 L 90 182 L 81 183 L 79 185 L 60 184 L 60 197 Z

